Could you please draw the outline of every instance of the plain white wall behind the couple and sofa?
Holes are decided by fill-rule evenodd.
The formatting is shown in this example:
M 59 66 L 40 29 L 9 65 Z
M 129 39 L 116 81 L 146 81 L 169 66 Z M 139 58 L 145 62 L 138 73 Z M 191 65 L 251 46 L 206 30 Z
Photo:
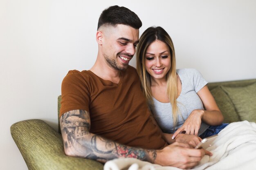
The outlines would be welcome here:
M 89 2 L 0 0 L 0 169 L 27 169 L 11 124 L 35 118 L 57 129 L 62 79 L 71 69 L 94 64 L 97 20 L 108 6 L 137 13 L 140 34 L 148 26 L 166 29 L 177 68 L 197 68 L 209 82 L 256 78 L 254 0 Z

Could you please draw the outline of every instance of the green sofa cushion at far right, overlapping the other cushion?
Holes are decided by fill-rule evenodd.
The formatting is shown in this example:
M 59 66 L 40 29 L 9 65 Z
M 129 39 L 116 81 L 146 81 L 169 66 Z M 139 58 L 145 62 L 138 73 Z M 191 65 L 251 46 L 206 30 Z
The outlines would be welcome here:
M 221 86 L 241 119 L 256 122 L 256 83 L 244 87 Z

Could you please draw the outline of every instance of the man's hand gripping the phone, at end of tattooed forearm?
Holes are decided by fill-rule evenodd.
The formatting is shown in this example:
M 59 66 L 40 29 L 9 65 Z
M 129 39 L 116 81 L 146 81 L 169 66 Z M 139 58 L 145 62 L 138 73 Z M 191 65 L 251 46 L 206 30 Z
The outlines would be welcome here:
M 205 154 L 206 152 L 203 149 L 192 149 L 188 144 L 175 142 L 157 151 L 157 159 L 154 163 L 162 166 L 190 169 L 198 165 Z M 211 155 L 211 153 L 207 152 L 207 155 Z

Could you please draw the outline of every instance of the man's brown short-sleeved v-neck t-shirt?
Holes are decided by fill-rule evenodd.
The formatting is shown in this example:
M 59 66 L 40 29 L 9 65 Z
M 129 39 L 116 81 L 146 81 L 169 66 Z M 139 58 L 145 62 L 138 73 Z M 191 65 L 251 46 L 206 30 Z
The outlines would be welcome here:
M 61 87 L 60 116 L 70 110 L 90 113 L 90 132 L 121 144 L 145 149 L 166 146 L 150 119 L 135 68 L 121 72 L 119 84 L 91 71 L 69 71 Z

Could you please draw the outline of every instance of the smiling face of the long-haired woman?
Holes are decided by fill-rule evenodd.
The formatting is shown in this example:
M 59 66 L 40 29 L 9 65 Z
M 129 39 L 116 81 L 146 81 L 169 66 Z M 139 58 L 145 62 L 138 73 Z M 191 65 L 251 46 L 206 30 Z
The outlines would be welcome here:
M 148 46 L 145 60 L 146 71 L 152 79 L 166 79 L 171 68 L 171 52 L 167 44 L 155 40 Z

